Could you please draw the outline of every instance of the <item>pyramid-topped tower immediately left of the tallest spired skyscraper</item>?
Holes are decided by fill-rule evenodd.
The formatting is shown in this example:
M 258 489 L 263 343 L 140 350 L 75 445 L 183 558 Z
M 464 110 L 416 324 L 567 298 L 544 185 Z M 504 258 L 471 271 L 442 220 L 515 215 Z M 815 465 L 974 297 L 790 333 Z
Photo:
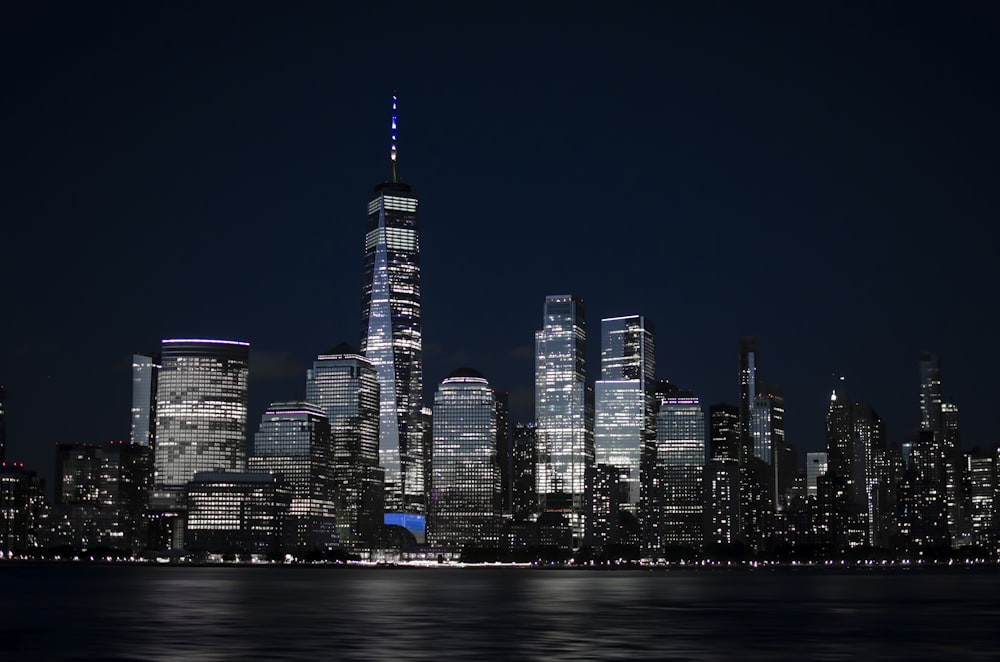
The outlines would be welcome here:
M 306 375 L 306 400 L 322 409 L 329 420 L 341 542 L 349 547 L 371 542 L 383 522 L 386 498 L 384 474 L 378 465 L 375 368 L 354 348 L 341 343 L 313 362 Z M 414 535 L 423 536 L 422 520 L 411 528 Z

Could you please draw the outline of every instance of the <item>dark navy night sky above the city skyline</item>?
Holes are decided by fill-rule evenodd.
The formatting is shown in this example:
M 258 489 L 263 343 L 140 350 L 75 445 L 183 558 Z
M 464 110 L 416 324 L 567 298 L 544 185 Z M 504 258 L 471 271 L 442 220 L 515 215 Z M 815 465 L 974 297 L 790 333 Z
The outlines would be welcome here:
M 531 418 L 573 293 L 590 379 L 600 319 L 638 313 L 660 378 L 734 402 L 757 335 L 805 452 L 834 373 L 915 429 L 927 349 L 964 445 L 998 441 L 991 3 L 423 4 L 0 9 L 8 458 L 127 439 L 161 338 L 251 343 L 251 435 L 356 345 L 393 90 L 428 399 L 471 366 Z

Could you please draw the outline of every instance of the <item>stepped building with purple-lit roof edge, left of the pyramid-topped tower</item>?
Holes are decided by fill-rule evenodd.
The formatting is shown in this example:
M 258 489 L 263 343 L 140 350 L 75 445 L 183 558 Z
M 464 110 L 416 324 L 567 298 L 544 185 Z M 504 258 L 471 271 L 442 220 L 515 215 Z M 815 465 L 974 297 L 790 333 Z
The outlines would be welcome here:
M 284 546 L 315 550 L 338 542 L 330 423 L 308 402 L 267 408 L 247 458 L 251 472 L 280 474 L 291 491 Z

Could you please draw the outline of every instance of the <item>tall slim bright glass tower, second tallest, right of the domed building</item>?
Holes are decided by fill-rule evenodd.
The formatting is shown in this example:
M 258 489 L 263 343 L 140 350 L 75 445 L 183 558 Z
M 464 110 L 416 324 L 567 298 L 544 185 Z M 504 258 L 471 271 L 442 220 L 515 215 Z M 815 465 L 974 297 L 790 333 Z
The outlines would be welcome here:
M 535 332 L 535 479 L 541 511 L 568 520 L 574 545 L 584 535 L 585 473 L 594 463 L 585 344 L 583 301 L 546 297 L 543 326 Z

